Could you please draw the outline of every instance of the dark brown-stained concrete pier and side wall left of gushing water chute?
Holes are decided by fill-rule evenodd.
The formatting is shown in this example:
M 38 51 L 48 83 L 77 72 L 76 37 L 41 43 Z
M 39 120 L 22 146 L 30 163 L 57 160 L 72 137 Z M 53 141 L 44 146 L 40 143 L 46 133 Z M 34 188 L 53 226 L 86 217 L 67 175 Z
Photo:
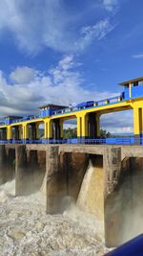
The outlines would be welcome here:
M 88 155 L 84 153 L 60 153 L 58 147 L 47 151 L 47 212 L 65 210 L 64 198 L 78 197 L 83 176 L 87 169 Z

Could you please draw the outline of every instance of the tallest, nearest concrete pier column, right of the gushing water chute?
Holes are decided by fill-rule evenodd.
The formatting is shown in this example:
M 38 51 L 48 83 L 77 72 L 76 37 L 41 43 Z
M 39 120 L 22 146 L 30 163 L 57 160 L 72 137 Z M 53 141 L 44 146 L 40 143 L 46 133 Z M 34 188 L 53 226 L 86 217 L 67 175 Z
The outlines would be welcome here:
M 119 244 L 122 224 L 122 204 L 116 201 L 115 190 L 121 172 L 121 148 L 105 148 L 104 151 L 104 212 L 105 243 L 109 247 Z

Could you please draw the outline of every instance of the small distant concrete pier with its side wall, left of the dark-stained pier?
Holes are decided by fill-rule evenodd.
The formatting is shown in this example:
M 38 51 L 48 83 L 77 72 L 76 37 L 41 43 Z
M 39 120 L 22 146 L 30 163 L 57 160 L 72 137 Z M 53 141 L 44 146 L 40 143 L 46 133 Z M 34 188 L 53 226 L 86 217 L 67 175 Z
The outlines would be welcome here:
M 45 152 L 43 153 L 45 155 Z M 45 165 L 43 166 L 41 162 L 39 163 L 38 154 L 38 151 L 27 151 L 25 145 L 20 145 L 16 148 L 16 196 L 30 195 L 40 189 L 46 170 Z

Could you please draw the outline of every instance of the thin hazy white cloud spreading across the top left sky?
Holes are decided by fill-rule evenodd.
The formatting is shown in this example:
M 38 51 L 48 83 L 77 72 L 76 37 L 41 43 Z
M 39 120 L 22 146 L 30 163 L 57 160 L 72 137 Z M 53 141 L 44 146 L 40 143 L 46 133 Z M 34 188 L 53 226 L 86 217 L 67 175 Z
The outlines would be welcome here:
M 110 2 L 104 1 L 107 9 L 113 6 Z M 111 22 L 101 20 L 87 26 L 84 35 L 80 35 L 81 28 L 71 29 L 75 22 L 75 15 L 67 12 L 60 0 L 43 0 L 42 4 L 41 0 L 0 1 L 0 37 L 8 31 L 16 46 L 32 55 L 45 47 L 62 53 L 84 50 L 92 40 L 102 39 L 113 28 Z

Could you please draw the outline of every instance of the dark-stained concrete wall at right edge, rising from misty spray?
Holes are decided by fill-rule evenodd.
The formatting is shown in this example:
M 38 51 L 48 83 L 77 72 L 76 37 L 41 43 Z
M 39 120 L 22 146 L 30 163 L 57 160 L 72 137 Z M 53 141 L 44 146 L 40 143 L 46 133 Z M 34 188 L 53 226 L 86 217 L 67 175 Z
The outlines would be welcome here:
M 115 164 L 115 158 L 112 161 Z M 112 180 L 112 189 L 111 186 L 108 188 L 105 198 L 105 241 L 107 246 L 114 247 L 143 232 L 143 158 L 124 158 L 120 171 L 116 170 L 114 182 Z

